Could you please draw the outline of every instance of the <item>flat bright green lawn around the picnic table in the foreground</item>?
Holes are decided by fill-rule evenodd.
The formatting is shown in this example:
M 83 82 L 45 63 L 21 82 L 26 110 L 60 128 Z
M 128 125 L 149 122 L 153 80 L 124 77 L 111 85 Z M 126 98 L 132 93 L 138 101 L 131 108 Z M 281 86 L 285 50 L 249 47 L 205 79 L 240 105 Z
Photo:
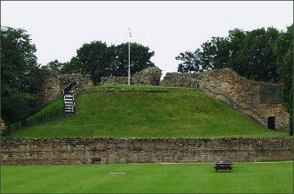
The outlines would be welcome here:
M 293 162 L 1 166 L 1 193 L 293 193 Z

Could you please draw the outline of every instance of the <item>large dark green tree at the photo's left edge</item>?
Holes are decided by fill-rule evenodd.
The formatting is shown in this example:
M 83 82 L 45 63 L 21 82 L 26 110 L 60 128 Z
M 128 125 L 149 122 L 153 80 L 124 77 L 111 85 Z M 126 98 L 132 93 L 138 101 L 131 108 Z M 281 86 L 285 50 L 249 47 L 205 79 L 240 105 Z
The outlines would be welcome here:
M 16 122 L 38 109 L 36 46 L 21 28 L 1 26 L 1 118 Z

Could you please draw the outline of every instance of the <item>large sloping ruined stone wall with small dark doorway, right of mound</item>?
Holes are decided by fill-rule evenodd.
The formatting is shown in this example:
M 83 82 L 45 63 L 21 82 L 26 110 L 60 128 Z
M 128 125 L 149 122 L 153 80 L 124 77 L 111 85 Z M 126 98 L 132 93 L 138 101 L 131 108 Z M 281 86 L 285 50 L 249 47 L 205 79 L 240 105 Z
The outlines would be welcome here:
M 275 117 L 276 129 L 288 128 L 289 114 L 280 97 L 280 85 L 255 82 L 231 69 L 199 73 L 201 90 L 221 99 L 248 117 L 267 126 L 268 117 Z

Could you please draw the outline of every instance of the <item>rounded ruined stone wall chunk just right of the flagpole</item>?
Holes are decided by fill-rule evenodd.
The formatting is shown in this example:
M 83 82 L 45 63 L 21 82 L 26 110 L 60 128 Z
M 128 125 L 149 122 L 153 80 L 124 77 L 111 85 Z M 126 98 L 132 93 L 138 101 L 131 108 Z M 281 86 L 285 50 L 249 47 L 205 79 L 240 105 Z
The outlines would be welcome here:
M 162 70 L 154 67 L 146 68 L 140 72 L 136 72 L 132 77 L 132 84 L 135 85 L 159 85 Z

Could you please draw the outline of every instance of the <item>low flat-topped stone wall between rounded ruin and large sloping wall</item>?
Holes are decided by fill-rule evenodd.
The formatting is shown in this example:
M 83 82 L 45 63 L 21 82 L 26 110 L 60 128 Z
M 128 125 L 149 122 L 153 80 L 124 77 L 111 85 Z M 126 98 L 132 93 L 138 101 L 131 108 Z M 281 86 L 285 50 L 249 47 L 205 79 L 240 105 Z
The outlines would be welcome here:
M 197 73 L 167 72 L 160 85 L 174 87 L 197 87 Z

